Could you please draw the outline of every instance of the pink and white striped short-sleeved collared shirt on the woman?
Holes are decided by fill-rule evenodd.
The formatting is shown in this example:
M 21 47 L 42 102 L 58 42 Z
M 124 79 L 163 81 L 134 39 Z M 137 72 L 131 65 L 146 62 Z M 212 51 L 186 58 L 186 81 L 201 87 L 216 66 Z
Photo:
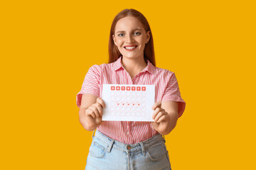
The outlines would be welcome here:
M 181 98 L 178 81 L 174 72 L 154 67 L 148 60 L 147 66 L 142 72 L 139 72 L 132 79 L 122 66 L 121 60 L 122 57 L 119 57 L 116 62 L 90 67 L 82 83 L 82 89 L 76 98 L 79 108 L 82 94 L 92 94 L 100 98 L 102 97 L 102 84 L 155 85 L 155 102 L 178 102 L 178 118 L 181 117 L 186 103 Z M 103 121 L 97 130 L 100 130 L 100 132 L 114 140 L 126 144 L 148 140 L 158 133 L 151 126 L 150 122 L 132 121 Z

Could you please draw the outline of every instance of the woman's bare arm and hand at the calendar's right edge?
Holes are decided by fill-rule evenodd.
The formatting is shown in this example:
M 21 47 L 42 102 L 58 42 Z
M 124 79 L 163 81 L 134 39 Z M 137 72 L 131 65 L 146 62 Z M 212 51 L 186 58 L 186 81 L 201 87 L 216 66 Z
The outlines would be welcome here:
M 168 135 L 176 126 L 178 120 L 178 103 L 176 101 L 156 102 L 152 106 L 155 110 L 151 123 L 153 128 L 161 135 Z

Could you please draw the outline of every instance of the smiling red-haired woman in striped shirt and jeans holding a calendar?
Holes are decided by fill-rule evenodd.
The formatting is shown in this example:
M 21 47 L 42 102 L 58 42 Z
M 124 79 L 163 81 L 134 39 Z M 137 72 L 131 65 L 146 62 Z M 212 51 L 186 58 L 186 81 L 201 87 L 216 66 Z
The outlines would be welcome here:
M 146 18 L 124 9 L 110 30 L 109 63 L 93 65 L 77 95 L 80 123 L 96 130 L 85 169 L 171 169 L 167 135 L 186 103 L 174 72 L 156 67 L 153 37 Z M 154 122 L 102 121 L 102 84 L 155 85 Z M 93 135 L 92 135 L 93 136 Z

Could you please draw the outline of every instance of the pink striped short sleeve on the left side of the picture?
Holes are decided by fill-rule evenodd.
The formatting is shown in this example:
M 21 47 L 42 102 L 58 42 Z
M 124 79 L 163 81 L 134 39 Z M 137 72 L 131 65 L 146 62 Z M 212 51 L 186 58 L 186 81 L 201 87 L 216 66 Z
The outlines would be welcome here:
M 97 65 L 93 65 L 85 75 L 82 82 L 82 89 L 76 96 L 76 103 L 78 108 L 81 106 L 82 94 L 92 94 L 100 97 L 100 70 Z

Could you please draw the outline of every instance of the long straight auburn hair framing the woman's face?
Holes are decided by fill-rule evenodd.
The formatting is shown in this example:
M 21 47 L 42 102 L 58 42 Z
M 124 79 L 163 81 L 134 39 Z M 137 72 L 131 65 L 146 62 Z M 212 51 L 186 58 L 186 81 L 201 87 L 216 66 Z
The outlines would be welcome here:
M 124 18 L 126 16 L 134 16 L 137 18 L 139 21 L 142 22 L 144 29 L 146 30 L 146 33 L 149 31 L 149 42 L 146 43 L 144 47 L 144 60 L 147 59 L 149 62 L 151 62 L 154 66 L 156 66 L 156 60 L 154 57 L 154 43 L 153 43 L 153 36 L 151 33 L 151 29 L 149 27 L 149 23 L 146 20 L 146 18 L 143 16 L 142 13 L 139 11 L 133 9 L 133 8 L 126 8 L 123 11 L 119 12 L 117 16 L 114 17 L 114 20 L 112 22 L 112 26 L 110 29 L 110 40 L 109 40 L 109 62 L 115 62 L 117 59 L 121 56 L 121 53 L 119 52 L 118 48 L 116 45 L 114 45 L 114 40 L 112 39 L 112 35 L 114 35 L 114 28 L 117 25 L 117 21 L 119 19 Z M 146 60 L 145 60 L 146 62 Z

